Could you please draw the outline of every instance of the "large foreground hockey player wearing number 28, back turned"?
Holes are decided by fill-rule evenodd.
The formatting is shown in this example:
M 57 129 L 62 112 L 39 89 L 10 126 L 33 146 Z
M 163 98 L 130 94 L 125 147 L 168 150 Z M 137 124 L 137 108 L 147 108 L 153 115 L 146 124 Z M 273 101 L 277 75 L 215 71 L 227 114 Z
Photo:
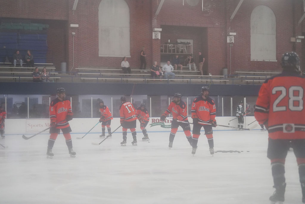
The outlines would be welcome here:
M 285 159 L 291 143 L 305 203 L 305 77 L 301 76 L 300 58 L 295 52 L 283 54 L 281 65 L 282 73 L 260 87 L 254 116 L 268 130 L 267 157 L 275 188 L 269 199 L 273 203 L 285 200 Z

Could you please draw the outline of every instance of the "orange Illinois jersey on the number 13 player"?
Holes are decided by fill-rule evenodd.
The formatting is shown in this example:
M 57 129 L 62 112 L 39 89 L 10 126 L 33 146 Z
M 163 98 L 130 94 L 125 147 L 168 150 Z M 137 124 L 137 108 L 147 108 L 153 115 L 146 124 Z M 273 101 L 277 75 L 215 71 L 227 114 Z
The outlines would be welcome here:
M 198 118 L 199 122 L 208 123 L 216 117 L 216 106 L 212 98 L 203 100 L 202 96 L 194 99 L 192 104 L 192 118 Z

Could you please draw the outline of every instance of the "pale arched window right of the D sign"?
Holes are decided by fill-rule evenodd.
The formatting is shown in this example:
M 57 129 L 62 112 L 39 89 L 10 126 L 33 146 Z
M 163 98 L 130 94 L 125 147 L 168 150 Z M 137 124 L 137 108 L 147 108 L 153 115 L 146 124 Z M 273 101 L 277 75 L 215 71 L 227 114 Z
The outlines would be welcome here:
M 276 19 L 267 6 L 257 6 L 251 13 L 251 60 L 276 61 Z

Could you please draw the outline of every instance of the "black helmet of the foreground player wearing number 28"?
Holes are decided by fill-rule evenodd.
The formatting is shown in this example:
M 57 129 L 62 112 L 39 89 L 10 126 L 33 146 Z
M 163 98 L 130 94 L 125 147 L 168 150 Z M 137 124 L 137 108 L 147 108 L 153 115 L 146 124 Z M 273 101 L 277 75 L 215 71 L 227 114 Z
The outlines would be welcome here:
M 300 57 L 295 52 L 286 52 L 282 56 L 283 69 L 290 72 L 301 72 Z

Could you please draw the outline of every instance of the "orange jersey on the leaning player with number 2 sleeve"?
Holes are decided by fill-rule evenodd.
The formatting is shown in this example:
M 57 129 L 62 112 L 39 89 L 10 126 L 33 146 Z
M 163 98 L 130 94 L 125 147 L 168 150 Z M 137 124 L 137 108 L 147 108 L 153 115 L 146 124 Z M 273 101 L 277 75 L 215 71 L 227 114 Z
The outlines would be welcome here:
M 180 100 L 179 105 L 174 102 L 170 102 L 170 105 L 168 106 L 168 108 L 166 109 L 166 111 L 163 114 L 165 114 L 167 116 L 170 113 L 172 113 L 173 118 L 176 118 L 178 121 L 187 121 L 188 120 L 186 104 L 185 104 L 185 102 L 183 102 L 181 100 Z

